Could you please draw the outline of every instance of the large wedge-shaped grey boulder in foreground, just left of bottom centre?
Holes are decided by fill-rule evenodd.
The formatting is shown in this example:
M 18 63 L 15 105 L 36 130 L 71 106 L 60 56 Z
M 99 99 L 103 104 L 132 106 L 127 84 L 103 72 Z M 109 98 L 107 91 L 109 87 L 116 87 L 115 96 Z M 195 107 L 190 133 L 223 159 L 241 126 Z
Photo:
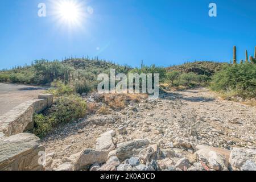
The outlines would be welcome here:
M 138 155 L 139 152 L 148 146 L 150 142 L 147 139 L 136 139 L 129 142 L 117 144 L 117 157 L 123 161 L 131 156 Z

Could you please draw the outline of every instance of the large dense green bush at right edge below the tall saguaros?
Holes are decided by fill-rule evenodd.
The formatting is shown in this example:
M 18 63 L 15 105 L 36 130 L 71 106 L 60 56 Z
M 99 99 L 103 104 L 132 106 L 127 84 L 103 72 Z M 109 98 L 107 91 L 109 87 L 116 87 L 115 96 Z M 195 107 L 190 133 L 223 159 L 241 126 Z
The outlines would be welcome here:
M 233 93 L 243 98 L 256 97 L 255 75 L 255 64 L 229 65 L 213 76 L 210 88 L 225 94 Z

